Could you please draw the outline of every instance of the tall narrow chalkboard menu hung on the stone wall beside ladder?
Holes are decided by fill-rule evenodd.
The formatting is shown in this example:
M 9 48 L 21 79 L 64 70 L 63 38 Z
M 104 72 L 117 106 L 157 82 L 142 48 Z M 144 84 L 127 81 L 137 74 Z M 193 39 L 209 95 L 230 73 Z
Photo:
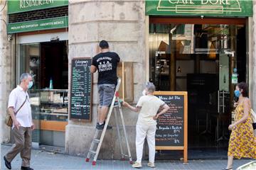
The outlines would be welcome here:
M 91 120 L 91 58 L 74 58 L 71 62 L 70 119 Z

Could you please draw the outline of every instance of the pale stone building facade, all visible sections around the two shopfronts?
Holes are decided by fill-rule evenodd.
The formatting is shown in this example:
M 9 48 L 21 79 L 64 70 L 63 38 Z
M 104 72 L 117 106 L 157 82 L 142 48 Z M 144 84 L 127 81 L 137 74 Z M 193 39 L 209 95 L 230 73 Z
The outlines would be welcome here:
M 16 34 L 7 34 L 8 14 L 4 1 L 0 1 L 0 115 L 1 142 L 9 142 L 10 129 L 4 125 L 5 110 L 11 89 L 16 86 Z M 117 52 L 122 62 L 134 63 L 134 104 L 149 80 L 149 16 L 142 0 L 70 0 L 68 3 L 68 84 L 70 85 L 71 60 L 75 57 L 93 57 L 99 51 L 100 40 L 110 43 L 110 50 Z M 1 10 L 3 8 L 3 10 Z M 256 2 L 253 16 L 247 18 L 247 79 L 250 86 L 252 108 L 256 108 L 256 52 L 255 22 Z M 251 35 L 251 36 L 250 36 Z M 93 79 L 92 122 L 68 120 L 65 126 L 65 152 L 85 156 L 90 148 L 97 123 L 97 75 Z M 124 109 L 124 121 L 129 136 L 132 157 L 135 157 L 135 125 L 137 114 Z M 114 126 L 114 119 L 110 121 Z M 124 143 L 124 142 L 123 142 Z M 116 129 L 108 130 L 102 145 L 100 158 L 119 159 Z

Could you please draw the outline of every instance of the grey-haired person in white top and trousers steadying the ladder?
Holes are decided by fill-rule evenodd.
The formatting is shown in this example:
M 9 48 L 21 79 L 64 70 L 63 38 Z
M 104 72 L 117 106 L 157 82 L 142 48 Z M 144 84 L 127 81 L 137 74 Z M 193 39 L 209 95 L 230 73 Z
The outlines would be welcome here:
M 147 165 L 154 167 L 156 120 L 160 115 L 169 110 L 169 106 L 167 106 L 164 101 L 154 96 L 155 89 L 153 83 L 147 82 L 145 89 L 146 95 L 139 98 L 136 107 L 130 106 L 129 103 L 125 101 L 123 102 L 123 106 L 139 113 L 136 125 L 137 161 L 132 165 L 134 168 L 142 167 L 142 152 L 145 137 L 149 145 L 149 163 Z M 159 108 L 163 109 L 157 113 Z

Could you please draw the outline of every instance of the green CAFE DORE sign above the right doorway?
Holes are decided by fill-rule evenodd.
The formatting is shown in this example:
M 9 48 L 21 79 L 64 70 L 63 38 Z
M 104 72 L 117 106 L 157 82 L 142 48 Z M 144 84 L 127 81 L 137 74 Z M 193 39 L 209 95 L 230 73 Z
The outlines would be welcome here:
M 252 16 L 252 0 L 146 0 L 146 15 Z

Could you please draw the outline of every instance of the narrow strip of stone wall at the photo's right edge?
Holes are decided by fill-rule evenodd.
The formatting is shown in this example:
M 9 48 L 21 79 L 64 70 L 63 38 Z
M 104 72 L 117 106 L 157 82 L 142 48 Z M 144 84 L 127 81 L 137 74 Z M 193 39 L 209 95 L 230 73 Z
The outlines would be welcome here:
M 256 1 L 252 1 L 253 16 L 252 16 L 252 59 L 250 67 L 252 69 L 250 75 L 250 87 L 251 87 L 251 101 L 252 108 L 256 109 Z

